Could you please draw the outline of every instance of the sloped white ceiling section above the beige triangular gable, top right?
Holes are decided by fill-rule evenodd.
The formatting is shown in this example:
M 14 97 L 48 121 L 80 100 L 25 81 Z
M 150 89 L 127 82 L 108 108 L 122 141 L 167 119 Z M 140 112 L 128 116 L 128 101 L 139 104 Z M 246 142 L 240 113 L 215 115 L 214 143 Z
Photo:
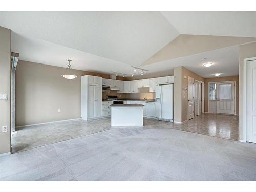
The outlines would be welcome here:
M 161 11 L 180 34 L 256 37 L 256 11 Z

